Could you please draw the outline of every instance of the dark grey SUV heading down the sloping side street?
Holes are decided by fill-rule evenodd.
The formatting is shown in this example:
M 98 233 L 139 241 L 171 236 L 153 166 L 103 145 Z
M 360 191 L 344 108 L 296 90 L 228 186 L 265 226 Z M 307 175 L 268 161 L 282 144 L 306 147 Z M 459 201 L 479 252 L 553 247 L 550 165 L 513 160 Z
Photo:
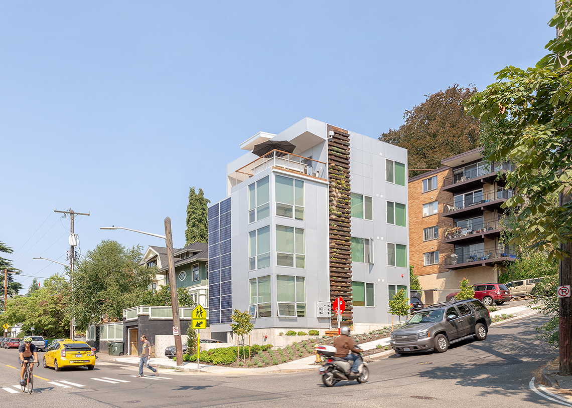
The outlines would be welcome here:
M 447 351 L 454 342 L 487 338 L 491 317 L 478 299 L 438 303 L 420 310 L 391 333 L 390 346 L 398 354 Z

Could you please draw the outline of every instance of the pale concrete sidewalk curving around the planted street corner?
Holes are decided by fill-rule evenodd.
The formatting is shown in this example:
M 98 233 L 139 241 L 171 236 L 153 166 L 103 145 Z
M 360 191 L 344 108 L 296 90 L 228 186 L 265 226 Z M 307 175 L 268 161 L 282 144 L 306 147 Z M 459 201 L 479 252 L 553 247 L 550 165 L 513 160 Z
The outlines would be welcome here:
M 537 313 L 526 306 L 517 307 L 507 307 L 506 309 L 497 310 L 491 313 L 491 317 L 501 315 L 501 314 L 513 314 L 513 318 L 524 317 L 529 314 Z M 509 319 L 511 320 L 511 319 Z M 506 322 L 506 321 L 503 321 Z M 498 325 L 502 322 L 493 323 L 493 325 Z M 390 338 L 386 337 L 379 340 L 370 341 L 367 343 L 361 343 L 360 347 L 364 350 L 376 349 L 378 345 L 382 347 L 380 353 L 371 354 L 365 357 L 366 361 L 371 361 L 374 359 L 385 357 L 386 355 L 394 354 L 393 350 L 383 350 L 383 347 L 388 346 L 390 343 Z M 100 360 L 101 358 L 101 360 Z M 113 361 L 118 363 L 124 363 L 126 365 L 139 365 L 139 358 L 133 356 L 108 356 L 100 353 L 98 355 L 98 360 L 100 361 Z M 224 367 L 224 366 L 213 366 L 209 364 L 200 363 L 197 367 L 196 362 L 184 362 L 182 366 L 177 366 L 177 363 L 170 358 L 150 358 L 149 364 L 156 368 L 161 369 L 174 369 L 178 371 L 185 371 L 186 373 L 201 373 L 201 374 L 225 374 L 225 375 L 247 375 L 247 374 L 269 374 L 269 373 L 292 373 L 295 371 L 312 371 L 317 370 L 321 364 L 316 364 L 316 357 L 311 355 L 309 357 L 300 358 L 294 361 L 289 361 L 287 363 L 278 364 L 270 367 L 252 367 L 252 368 L 239 368 L 239 367 Z M 97 364 L 97 363 L 96 363 Z

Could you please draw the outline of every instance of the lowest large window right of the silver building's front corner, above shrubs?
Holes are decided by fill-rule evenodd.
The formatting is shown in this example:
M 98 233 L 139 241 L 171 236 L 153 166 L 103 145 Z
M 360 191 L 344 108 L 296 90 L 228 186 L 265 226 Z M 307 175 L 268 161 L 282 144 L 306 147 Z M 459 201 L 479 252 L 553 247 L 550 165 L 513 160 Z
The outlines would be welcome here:
M 306 317 L 304 277 L 276 275 L 276 297 L 280 317 Z

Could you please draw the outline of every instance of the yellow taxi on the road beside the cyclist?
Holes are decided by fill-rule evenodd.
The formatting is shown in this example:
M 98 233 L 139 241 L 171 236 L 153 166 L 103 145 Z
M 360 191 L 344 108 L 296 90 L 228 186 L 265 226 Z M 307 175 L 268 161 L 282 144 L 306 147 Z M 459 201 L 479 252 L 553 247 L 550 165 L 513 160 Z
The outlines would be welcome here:
M 83 341 L 71 339 L 54 341 L 43 354 L 43 367 L 54 367 L 59 371 L 62 367 L 85 366 L 93 370 L 96 365 L 96 349 Z

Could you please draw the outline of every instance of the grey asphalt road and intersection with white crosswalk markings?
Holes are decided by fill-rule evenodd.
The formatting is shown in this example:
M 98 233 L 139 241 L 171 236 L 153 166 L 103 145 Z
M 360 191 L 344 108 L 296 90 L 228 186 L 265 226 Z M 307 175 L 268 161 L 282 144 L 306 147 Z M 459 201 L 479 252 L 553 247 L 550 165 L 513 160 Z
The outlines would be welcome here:
M 58 373 L 40 365 L 31 395 L 10 393 L 6 389 L 19 390 L 19 372 L 12 368 L 18 367 L 18 352 L 0 349 L 0 401 L 2 407 L 42 408 L 559 407 L 529 389 L 531 378 L 556 356 L 534 338 L 534 327 L 545 321 L 534 315 L 494 325 L 485 341 L 463 341 L 444 354 L 391 355 L 370 363 L 367 383 L 331 388 L 317 371 L 224 376 L 160 370 L 158 378 L 136 378 L 137 367 L 97 362 L 92 371 Z

